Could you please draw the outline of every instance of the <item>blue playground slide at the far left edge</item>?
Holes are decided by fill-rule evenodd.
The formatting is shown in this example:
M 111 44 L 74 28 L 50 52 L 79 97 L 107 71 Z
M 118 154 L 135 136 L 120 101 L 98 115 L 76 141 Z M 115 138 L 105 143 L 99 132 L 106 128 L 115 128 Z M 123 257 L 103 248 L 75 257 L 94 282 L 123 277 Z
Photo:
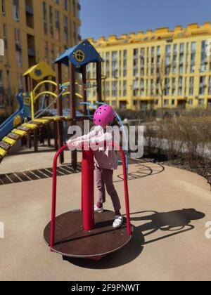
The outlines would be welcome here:
M 8 117 L 8 119 L 6 119 L 6 121 L 4 121 L 0 125 L 0 140 L 2 138 L 4 138 L 4 136 L 6 136 L 8 133 L 10 133 L 15 128 L 15 126 L 13 124 L 13 120 L 15 119 L 15 117 L 20 116 L 22 121 L 24 119 L 25 106 L 23 103 L 23 93 L 18 94 L 16 96 L 16 99 L 18 100 L 19 108 L 16 112 L 14 112 L 14 114 L 12 114 L 10 117 Z

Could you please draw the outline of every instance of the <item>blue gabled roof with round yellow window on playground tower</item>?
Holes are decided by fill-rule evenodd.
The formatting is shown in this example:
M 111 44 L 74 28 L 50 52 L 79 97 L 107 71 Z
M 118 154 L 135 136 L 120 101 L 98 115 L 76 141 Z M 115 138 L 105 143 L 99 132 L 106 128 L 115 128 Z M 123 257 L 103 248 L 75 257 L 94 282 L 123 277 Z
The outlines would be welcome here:
M 78 58 L 79 56 L 79 58 Z M 96 51 L 93 45 L 88 40 L 82 41 L 77 46 L 64 51 L 56 60 L 55 63 L 63 63 L 69 65 L 69 62 L 75 65 L 76 70 L 80 71 L 82 65 L 88 63 L 102 62 L 101 55 Z

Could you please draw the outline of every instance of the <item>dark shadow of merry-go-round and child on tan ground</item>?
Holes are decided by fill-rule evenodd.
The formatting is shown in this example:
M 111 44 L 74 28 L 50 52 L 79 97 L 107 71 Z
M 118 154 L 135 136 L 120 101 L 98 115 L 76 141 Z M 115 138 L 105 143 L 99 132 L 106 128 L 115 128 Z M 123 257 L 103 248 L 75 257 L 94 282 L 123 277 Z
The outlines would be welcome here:
M 140 215 L 146 213 L 148 213 L 146 216 L 133 217 L 137 214 Z M 184 232 L 188 232 L 189 230 L 193 230 L 195 227 L 191 225 L 191 221 L 196 221 L 204 217 L 205 214 L 196 211 L 196 209 L 181 209 L 163 213 L 159 213 L 157 211 L 135 212 L 131 214 L 131 221 L 148 222 L 144 223 L 143 225 L 134 226 L 132 240 L 129 242 L 129 244 L 127 244 L 127 246 L 97 262 L 91 261 L 89 259 L 69 257 L 63 257 L 63 260 L 81 268 L 117 268 L 121 265 L 125 265 L 134 261 L 134 259 L 136 259 L 141 254 L 145 245 L 170 238 L 174 235 L 180 235 Z M 165 235 L 146 241 L 146 237 L 153 235 L 153 233 L 158 232 L 159 230 L 161 232 L 165 232 Z

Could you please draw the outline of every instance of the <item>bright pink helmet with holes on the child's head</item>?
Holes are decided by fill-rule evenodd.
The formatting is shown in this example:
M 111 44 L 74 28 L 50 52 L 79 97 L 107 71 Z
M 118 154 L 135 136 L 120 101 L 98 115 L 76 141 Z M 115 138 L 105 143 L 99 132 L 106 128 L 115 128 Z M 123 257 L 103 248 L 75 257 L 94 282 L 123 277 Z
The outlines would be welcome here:
M 103 126 L 108 125 L 115 119 L 115 111 L 110 105 L 101 105 L 94 113 L 94 124 Z

